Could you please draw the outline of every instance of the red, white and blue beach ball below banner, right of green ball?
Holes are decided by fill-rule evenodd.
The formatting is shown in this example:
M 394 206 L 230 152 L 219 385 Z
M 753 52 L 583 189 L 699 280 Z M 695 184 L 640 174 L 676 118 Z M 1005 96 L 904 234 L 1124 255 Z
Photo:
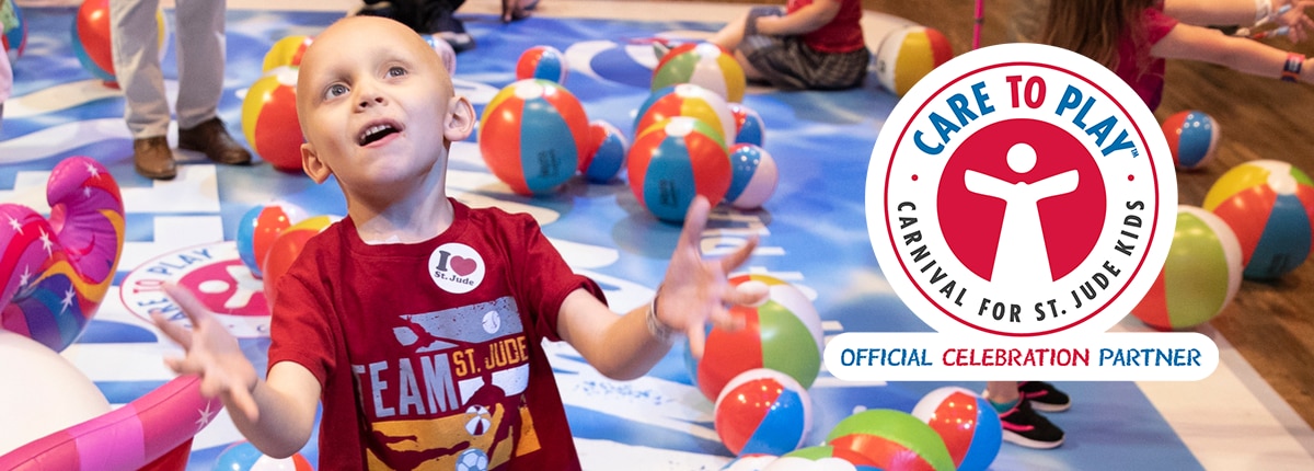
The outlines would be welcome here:
M 959 387 L 942 387 L 926 393 L 913 407 L 912 414 L 940 434 L 958 471 L 984 471 L 995 462 L 1004 442 L 1004 426 L 995 407 Z

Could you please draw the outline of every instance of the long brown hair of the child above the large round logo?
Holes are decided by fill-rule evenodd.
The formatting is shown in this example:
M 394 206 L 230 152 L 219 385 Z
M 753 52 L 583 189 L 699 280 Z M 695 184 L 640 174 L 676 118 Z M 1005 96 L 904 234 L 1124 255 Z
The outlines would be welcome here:
M 1158 1 L 1162 0 L 1051 0 L 1039 42 L 1085 55 L 1116 71 L 1118 43 L 1123 37 L 1135 45 L 1146 42 L 1141 17 Z

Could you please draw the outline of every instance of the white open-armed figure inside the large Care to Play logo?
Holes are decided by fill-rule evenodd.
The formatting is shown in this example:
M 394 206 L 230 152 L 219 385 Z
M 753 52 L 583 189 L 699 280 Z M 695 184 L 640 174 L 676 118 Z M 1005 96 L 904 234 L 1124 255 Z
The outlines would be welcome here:
M 1035 167 L 1035 149 L 1026 143 L 1014 143 L 1008 149 L 1007 161 L 1009 168 L 1025 175 Z M 1075 191 L 1077 182 L 1076 170 L 1068 170 L 1035 183 L 1008 183 L 972 170 L 963 175 L 967 191 L 997 197 L 1005 204 L 1004 224 L 1000 228 L 999 246 L 995 250 L 995 268 L 991 272 L 991 282 L 1013 288 L 1054 282 L 1037 204 L 1046 197 Z

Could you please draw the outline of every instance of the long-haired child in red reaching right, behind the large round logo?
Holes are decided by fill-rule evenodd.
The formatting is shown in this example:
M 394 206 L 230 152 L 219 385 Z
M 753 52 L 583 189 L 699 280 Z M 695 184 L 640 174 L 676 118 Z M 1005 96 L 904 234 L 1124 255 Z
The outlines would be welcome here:
M 1302 54 L 1196 26 L 1271 21 L 1286 26 L 1293 41 L 1303 41 L 1306 29 L 1314 28 L 1305 14 L 1310 5 L 1314 3 L 1285 0 L 1050 1 L 1038 41 L 1105 64 L 1152 111 L 1163 99 L 1164 59 L 1204 61 L 1285 82 L 1314 82 L 1314 63 Z

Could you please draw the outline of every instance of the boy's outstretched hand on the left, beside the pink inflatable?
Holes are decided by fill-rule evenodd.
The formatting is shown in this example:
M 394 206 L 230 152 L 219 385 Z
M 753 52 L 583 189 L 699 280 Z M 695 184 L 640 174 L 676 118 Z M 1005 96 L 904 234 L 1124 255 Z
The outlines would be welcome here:
M 255 422 L 259 418 L 259 409 L 251 392 L 259 376 L 242 354 L 237 338 L 185 288 L 167 284 L 164 292 L 192 321 L 192 329 L 188 330 L 170 322 L 159 313 L 151 314 L 155 326 L 187 350 L 185 357 L 166 358 L 164 363 L 177 374 L 201 376 L 202 395 L 219 396 L 227 407 L 240 410 L 248 421 Z

